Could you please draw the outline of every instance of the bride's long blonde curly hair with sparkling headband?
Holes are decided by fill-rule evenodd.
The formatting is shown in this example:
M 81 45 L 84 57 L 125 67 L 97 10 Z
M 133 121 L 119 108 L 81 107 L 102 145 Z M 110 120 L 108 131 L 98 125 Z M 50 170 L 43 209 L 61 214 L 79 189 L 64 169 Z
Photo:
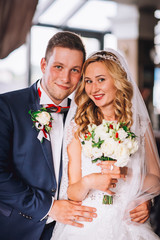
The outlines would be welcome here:
M 80 82 L 76 95 L 75 102 L 78 106 L 75 122 L 78 125 L 77 134 L 87 132 L 87 125 L 94 123 L 99 125 L 104 118 L 102 111 L 94 102 L 88 97 L 85 92 L 84 74 L 89 64 L 94 62 L 102 62 L 105 64 L 108 73 L 114 79 L 116 87 L 116 95 L 113 102 L 116 120 L 118 122 L 125 122 L 128 127 L 131 127 L 132 120 L 132 84 L 127 79 L 127 74 L 122 68 L 118 58 L 111 52 L 99 51 L 91 55 L 84 63 L 82 69 L 82 81 Z

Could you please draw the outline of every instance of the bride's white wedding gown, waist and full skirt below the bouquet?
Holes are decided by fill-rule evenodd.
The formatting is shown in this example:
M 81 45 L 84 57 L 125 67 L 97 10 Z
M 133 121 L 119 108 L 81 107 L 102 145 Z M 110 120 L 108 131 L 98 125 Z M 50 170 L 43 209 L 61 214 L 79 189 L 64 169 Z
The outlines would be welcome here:
M 82 153 L 82 175 L 100 172 L 96 163 L 91 163 Z M 117 184 L 116 195 L 112 205 L 102 204 L 103 193 L 91 191 L 83 205 L 95 207 L 97 218 L 92 222 L 83 222 L 83 228 L 57 223 L 53 231 L 52 240 L 158 240 L 160 239 L 152 231 L 149 222 L 136 224 L 128 220 L 125 209 L 127 208 L 129 182 L 120 180 Z M 126 191 L 127 189 L 127 191 Z

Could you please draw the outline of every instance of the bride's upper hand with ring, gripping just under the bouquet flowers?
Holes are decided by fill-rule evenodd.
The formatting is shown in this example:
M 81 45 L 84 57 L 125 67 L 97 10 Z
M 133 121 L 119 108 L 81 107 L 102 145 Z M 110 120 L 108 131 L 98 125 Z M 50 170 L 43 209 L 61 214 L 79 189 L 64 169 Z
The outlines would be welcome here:
M 126 177 L 127 175 L 127 167 L 117 167 L 115 161 L 101 161 L 97 163 L 97 166 L 101 167 L 102 173 L 110 173 L 110 174 L 120 174 L 121 178 Z

